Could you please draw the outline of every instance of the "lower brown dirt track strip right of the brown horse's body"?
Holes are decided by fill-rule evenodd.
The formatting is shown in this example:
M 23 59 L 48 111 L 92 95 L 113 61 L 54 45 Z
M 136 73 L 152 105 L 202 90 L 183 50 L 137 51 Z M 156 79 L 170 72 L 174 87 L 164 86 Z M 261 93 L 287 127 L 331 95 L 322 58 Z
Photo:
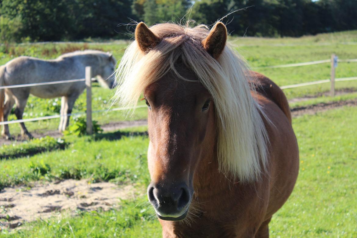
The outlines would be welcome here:
M 303 107 L 291 108 L 291 115 L 293 117 L 301 116 L 304 114 L 315 114 L 317 112 L 327 111 L 343 106 L 357 106 L 357 98 L 347 101 L 337 101 L 337 102 L 321 102 L 314 105 L 308 105 Z

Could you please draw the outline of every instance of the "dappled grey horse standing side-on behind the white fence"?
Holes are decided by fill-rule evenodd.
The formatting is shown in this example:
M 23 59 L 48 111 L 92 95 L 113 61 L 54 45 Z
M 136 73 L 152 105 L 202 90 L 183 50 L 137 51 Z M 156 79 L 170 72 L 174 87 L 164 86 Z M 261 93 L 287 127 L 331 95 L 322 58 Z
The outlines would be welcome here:
M 109 52 L 97 50 L 76 51 L 59 56 L 54 60 L 42 60 L 20 56 L 0 66 L 0 86 L 41 83 L 60 80 L 84 79 L 85 67 L 92 67 L 92 75 L 97 76 L 102 86 L 112 88 L 115 83 L 116 60 Z M 64 131 L 69 123 L 74 102 L 85 89 L 85 82 L 70 82 L 52 85 L 0 89 L 0 119 L 7 121 L 11 108 L 16 103 L 15 115 L 22 119 L 29 95 L 41 98 L 62 97 L 59 131 Z M 25 124 L 20 123 L 21 136 L 32 138 Z M 1 135 L 11 139 L 9 126 L 4 125 Z

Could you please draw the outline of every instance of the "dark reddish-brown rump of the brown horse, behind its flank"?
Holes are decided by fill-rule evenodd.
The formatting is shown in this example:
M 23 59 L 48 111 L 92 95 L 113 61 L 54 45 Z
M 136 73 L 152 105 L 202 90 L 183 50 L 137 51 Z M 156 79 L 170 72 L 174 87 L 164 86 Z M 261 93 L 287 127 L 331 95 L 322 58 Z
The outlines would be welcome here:
M 275 104 L 286 115 L 291 124 L 292 119 L 289 102 L 281 88 L 276 85 L 272 80 L 268 79 L 262 74 L 259 74 L 257 72 L 251 72 L 251 75 L 257 81 L 256 83 L 254 83 L 256 85 L 256 91 L 275 102 Z

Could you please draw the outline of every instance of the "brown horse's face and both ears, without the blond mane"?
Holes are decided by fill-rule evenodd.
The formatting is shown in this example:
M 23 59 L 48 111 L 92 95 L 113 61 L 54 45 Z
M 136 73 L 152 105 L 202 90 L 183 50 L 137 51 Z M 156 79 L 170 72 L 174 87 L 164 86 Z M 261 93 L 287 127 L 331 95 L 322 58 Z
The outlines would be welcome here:
M 210 54 L 206 56 L 217 58 L 226 39 L 226 27 L 218 22 L 201 41 L 201 48 Z M 155 49 L 161 37 L 140 23 L 135 40 L 145 54 Z M 166 72 L 144 90 L 150 136 L 147 156 L 151 183 L 147 193 L 157 216 L 168 221 L 186 218 L 194 193 L 193 181 L 205 166 L 200 162 L 217 151 L 211 94 L 183 59 L 178 57 L 174 67 L 176 72 Z

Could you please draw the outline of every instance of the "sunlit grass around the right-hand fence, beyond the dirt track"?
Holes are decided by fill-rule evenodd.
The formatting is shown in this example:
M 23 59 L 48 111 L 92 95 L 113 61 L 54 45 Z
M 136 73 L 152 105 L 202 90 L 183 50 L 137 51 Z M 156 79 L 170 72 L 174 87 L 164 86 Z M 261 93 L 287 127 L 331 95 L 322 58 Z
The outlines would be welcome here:
M 290 40 L 293 42 L 298 39 L 290 38 Z M 356 45 L 339 45 L 335 43 L 323 46 L 294 45 L 280 47 L 262 44 L 258 46 L 241 46 L 236 47 L 236 49 L 247 60 L 252 70 L 269 77 L 279 86 L 330 79 L 330 63 L 277 69 L 260 67 L 326 60 L 330 59 L 333 53 L 339 59 L 357 59 L 357 42 Z M 356 76 L 356 62 L 338 63 L 336 78 Z M 357 81 L 336 82 L 336 88 L 345 87 L 357 88 Z M 288 98 L 295 98 L 328 90 L 330 90 L 330 83 L 291 88 L 284 90 L 284 92 Z

